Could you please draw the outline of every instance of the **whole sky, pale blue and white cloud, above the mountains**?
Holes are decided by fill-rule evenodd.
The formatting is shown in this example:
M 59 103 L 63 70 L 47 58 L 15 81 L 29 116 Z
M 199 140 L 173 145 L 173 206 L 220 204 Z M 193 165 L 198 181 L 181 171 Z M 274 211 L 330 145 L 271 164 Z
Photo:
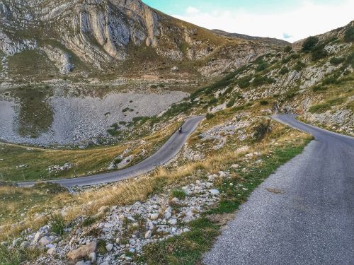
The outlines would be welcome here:
M 208 29 L 295 42 L 354 20 L 354 0 L 142 0 Z

